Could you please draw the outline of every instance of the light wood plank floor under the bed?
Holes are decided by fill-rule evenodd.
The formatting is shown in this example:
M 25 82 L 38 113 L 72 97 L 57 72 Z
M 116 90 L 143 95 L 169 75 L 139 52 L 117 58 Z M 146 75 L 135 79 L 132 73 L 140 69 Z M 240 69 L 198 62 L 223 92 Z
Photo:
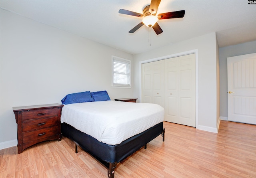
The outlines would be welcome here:
M 164 122 L 158 136 L 121 161 L 115 178 L 256 178 L 256 125 L 221 121 L 219 133 Z M 107 178 L 107 169 L 66 137 L 18 154 L 0 150 L 1 178 Z

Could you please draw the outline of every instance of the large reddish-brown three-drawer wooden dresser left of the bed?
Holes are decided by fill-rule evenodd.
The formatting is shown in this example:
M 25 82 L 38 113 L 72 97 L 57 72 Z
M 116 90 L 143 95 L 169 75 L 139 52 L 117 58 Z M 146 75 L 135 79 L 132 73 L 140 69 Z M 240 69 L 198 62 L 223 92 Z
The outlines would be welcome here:
M 46 140 L 61 140 L 60 116 L 63 105 L 13 107 L 17 123 L 18 153 Z

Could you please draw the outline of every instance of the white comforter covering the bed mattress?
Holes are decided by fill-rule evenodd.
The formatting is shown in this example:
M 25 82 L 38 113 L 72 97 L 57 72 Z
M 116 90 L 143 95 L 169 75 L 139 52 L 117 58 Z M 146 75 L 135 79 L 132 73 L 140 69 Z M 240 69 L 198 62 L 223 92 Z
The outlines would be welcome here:
M 62 108 L 61 123 L 116 145 L 164 121 L 164 109 L 150 103 L 95 101 L 74 103 Z

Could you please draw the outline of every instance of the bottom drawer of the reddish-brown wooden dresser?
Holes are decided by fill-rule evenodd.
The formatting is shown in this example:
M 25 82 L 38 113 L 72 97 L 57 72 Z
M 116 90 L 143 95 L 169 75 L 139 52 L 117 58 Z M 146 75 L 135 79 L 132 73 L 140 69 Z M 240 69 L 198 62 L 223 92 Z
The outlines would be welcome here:
M 55 134 L 58 134 L 58 126 L 47 127 L 44 129 L 39 129 L 31 132 L 24 132 L 22 133 L 23 143 L 30 142 L 33 140 L 39 140 Z

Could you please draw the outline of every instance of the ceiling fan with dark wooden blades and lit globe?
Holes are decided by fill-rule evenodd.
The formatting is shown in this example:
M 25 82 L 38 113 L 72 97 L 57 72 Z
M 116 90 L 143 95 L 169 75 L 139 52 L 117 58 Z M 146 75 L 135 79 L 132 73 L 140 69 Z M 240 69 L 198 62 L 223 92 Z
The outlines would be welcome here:
M 120 9 L 118 12 L 120 14 L 126 14 L 130 16 L 136 16 L 141 17 L 142 22 L 135 26 L 132 30 L 129 31 L 129 33 L 134 33 L 136 30 L 138 30 L 140 27 L 142 27 L 144 24 L 148 27 L 152 27 L 157 35 L 161 34 L 163 30 L 158 25 L 157 21 L 162 19 L 168 19 L 168 18 L 182 18 L 185 15 L 185 10 L 180 11 L 174 11 L 174 12 L 166 12 L 162 14 L 156 15 L 158 6 L 160 4 L 161 0 L 151 0 L 150 5 L 146 6 L 143 9 L 143 14 L 132 12 L 130 10 L 124 10 Z

